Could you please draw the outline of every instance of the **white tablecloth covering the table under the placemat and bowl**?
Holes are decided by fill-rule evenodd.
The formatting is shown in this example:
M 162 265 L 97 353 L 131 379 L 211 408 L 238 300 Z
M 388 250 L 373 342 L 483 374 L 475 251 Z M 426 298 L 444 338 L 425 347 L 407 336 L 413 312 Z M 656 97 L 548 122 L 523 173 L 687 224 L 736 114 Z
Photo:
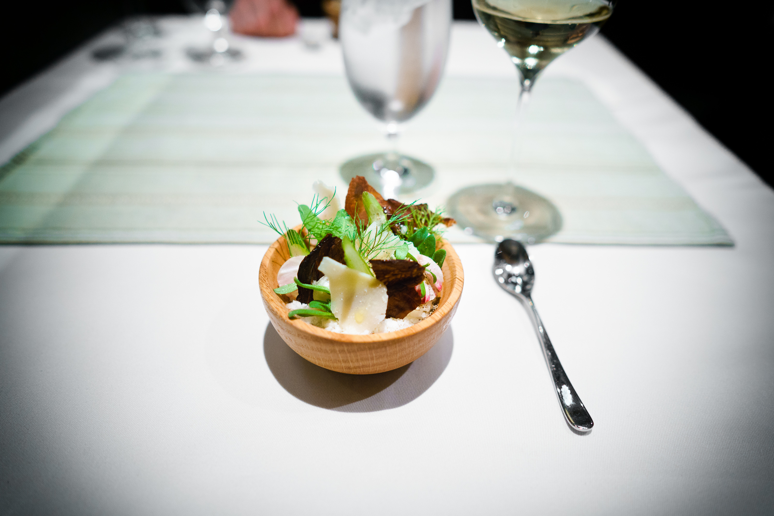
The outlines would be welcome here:
M 163 26 L 163 67 L 192 67 L 179 49 L 198 26 Z M 333 42 L 235 39 L 234 73 L 342 70 Z M 0 160 L 122 71 L 90 62 L 98 44 L 0 101 Z M 513 71 L 457 23 L 447 73 Z M 0 513 L 772 514 L 772 190 L 601 37 L 548 74 L 584 81 L 736 242 L 530 248 L 591 434 L 563 422 L 489 245 L 457 246 L 466 283 L 444 339 L 373 377 L 277 337 L 265 246 L 5 246 Z

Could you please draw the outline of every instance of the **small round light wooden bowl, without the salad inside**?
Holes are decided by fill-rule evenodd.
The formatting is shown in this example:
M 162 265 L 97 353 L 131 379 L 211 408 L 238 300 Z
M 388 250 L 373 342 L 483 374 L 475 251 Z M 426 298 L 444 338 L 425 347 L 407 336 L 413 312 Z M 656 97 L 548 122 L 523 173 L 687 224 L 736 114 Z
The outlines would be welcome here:
M 296 231 L 299 229 L 296 227 Z M 446 260 L 441 268 L 444 272 L 444 289 L 441 291 L 440 302 L 426 320 L 404 330 L 348 335 L 323 330 L 302 320 L 289 319 L 286 303 L 290 299 L 274 292 L 279 286 L 277 272 L 289 258 L 284 237 L 279 237 L 272 244 L 261 261 L 259 285 L 263 306 L 279 336 L 293 351 L 313 364 L 350 374 L 392 371 L 426 354 L 444 334 L 457 311 L 464 281 L 462 264 L 451 244 L 444 240 L 441 248 L 446 249 Z

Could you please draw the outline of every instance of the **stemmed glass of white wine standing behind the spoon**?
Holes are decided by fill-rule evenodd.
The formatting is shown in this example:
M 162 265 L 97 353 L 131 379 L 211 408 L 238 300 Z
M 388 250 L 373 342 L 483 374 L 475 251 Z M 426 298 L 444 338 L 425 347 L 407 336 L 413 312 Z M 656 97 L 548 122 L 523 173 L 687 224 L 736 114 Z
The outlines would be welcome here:
M 511 147 L 511 173 L 519 168 L 523 115 L 535 80 L 551 61 L 599 32 L 615 0 L 472 0 L 478 22 L 515 64 L 521 83 Z M 561 216 L 544 197 L 513 183 L 468 186 L 450 197 L 447 210 L 464 227 L 490 240 L 539 241 L 561 228 Z

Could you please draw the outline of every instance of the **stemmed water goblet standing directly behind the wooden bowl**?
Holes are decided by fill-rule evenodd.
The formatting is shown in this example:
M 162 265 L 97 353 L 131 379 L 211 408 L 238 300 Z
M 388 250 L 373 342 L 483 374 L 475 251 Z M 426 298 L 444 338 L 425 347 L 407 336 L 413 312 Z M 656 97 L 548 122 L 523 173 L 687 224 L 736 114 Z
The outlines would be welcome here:
M 433 168 L 397 149 L 402 123 L 430 101 L 446 64 L 450 0 L 343 0 L 339 39 L 354 96 L 382 121 L 391 149 L 341 166 L 349 181 L 365 176 L 385 196 L 419 190 Z

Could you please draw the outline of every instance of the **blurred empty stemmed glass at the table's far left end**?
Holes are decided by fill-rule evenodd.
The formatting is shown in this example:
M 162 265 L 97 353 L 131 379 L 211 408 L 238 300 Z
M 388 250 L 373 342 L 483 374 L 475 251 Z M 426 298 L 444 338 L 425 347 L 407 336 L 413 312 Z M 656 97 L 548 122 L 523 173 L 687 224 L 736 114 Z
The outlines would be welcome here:
M 235 49 L 228 41 L 228 9 L 233 0 L 184 0 L 190 12 L 204 14 L 204 26 L 210 30 L 212 41 L 208 46 L 190 46 L 187 56 L 197 63 L 220 66 L 229 60 L 241 59 L 241 50 Z

